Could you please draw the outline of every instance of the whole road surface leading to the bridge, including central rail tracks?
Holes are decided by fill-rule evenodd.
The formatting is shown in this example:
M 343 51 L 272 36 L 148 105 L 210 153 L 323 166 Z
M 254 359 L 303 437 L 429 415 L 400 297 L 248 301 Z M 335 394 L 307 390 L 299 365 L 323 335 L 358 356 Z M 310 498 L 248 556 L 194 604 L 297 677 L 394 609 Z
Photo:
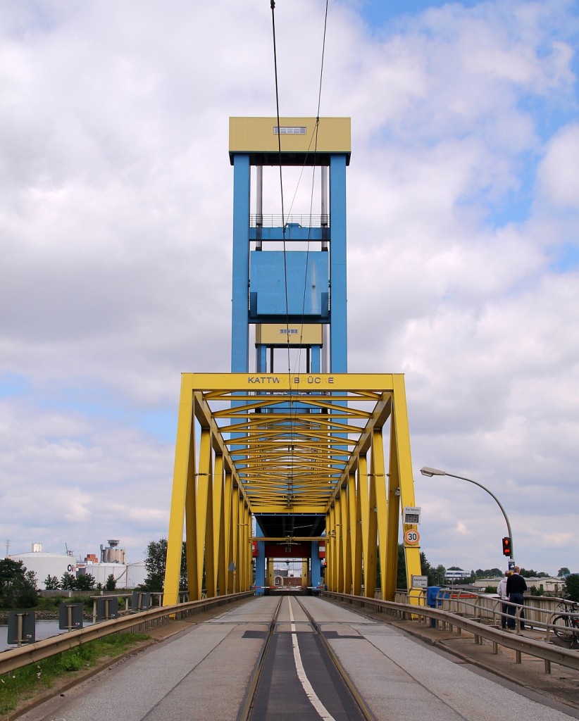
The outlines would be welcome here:
M 191 620 L 19 721 L 579 717 L 395 624 L 316 596 L 255 596 Z

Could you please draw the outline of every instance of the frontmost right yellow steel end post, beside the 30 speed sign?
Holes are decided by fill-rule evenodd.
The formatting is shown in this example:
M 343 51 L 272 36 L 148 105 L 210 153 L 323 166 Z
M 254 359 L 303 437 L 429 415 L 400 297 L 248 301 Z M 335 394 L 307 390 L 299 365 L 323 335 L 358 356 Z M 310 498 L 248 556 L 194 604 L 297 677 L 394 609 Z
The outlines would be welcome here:
M 394 503 L 390 503 L 392 510 L 389 515 L 389 524 L 392 526 L 391 535 L 396 534 L 398 540 L 398 523 L 400 518 L 399 503 L 402 506 L 414 506 L 414 478 L 412 477 L 412 458 L 410 455 L 410 431 L 408 429 L 408 413 L 406 406 L 406 391 L 404 385 L 404 376 L 397 374 L 393 376 L 394 380 L 394 404 L 392 417 L 390 420 L 390 478 L 389 492 L 390 497 L 394 497 Z M 399 488 L 400 495 L 397 497 L 396 490 Z M 417 526 L 406 526 L 406 530 L 417 528 Z M 406 580 L 408 588 L 412 588 L 412 576 L 419 576 L 420 571 L 420 546 L 408 546 L 405 543 L 405 559 L 406 559 Z M 398 558 L 398 556 L 396 556 Z M 394 593 L 396 591 L 396 574 L 392 585 L 388 589 L 388 600 L 394 601 Z M 417 590 L 415 596 L 412 596 L 412 603 L 417 603 L 422 592 Z

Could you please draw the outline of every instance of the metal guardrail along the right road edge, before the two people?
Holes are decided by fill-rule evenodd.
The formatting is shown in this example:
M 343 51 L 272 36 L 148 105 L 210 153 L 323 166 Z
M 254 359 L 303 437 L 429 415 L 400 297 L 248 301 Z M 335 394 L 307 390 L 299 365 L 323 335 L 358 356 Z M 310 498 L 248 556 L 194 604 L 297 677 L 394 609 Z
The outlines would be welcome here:
M 459 629 L 459 633 L 463 630 L 467 631 L 473 634 L 474 643 L 481 644 L 482 639 L 490 641 L 492 643 L 493 653 L 498 653 L 499 646 L 514 650 L 516 653 L 516 663 L 522 663 L 523 653 L 534 656 L 534 658 L 541 658 L 544 660 L 545 673 L 551 673 L 552 663 L 558 663 L 567 668 L 573 668 L 575 671 L 579 671 L 579 653 L 577 651 L 567 650 L 549 644 L 549 634 L 552 630 L 552 624 L 549 625 L 549 622 L 542 624 L 546 629 L 545 638 L 543 640 L 535 640 L 523 636 L 520 629 L 517 634 L 511 634 L 502 629 L 487 626 L 481 622 L 482 616 L 469 618 L 461 615 L 459 612 L 430 608 L 430 606 L 399 603 L 397 601 L 381 601 L 379 598 L 349 596 L 346 593 L 335 593 L 334 591 L 324 591 L 320 595 L 325 598 L 335 598 L 337 601 L 350 603 L 353 606 L 361 606 L 373 611 L 382 613 L 386 611 L 386 613 L 395 615 L 399 619 L 417 622 L 430 622 L 430 620 L 433 620 L 435 624 L 444 624 L 450 631 L 452 631 L 453 628 Z M 474 594 L 470 594 L 471 598 L 473 595 Z M 469 603 L 466 598 L 452 600 L 460 603 L 465 608 L 476 608 L 476 604 Z M 500 599 L 498 599 L 498 601 L 501 603 Z M 528 606 L 524 607 L 525 613 L 528 608 Z M 552 616 L 557 615 L 554 611 L 551 613 Z M 470 615 L 472 616 L 472 614 Z M 525 623 L 527 622 L 529 622 L 529 619 L 525 619 Z M 531 622 L 531 624 L 535 626 L 537 622 Z

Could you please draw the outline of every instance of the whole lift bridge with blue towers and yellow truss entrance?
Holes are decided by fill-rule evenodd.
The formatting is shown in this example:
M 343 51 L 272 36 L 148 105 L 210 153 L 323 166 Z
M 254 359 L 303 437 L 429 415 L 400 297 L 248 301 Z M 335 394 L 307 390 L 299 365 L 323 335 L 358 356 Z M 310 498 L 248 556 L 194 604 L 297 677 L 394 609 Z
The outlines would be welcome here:
M 418 518 L 404 377 L 347 368 L 350 118 L 230 118 L 229 158 L 231 373 L 182 374 L 164 605 L 184 529 L 191 600 L 264 593 L 274 558 L 355 596 L 379 575 L 393 600 L 401 526 L 408 588 L 420 576 Z M 319 174 L 316 215 L 263 213 L 264 167 L 279 190 L 288 166 Z

